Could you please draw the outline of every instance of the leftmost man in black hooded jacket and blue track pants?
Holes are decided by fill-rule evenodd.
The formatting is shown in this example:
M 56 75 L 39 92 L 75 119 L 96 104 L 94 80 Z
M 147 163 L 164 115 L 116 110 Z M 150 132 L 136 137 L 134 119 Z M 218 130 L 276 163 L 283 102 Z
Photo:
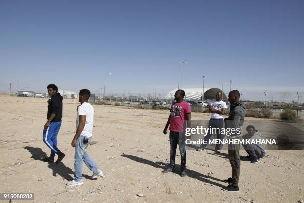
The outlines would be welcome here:
M 56 85 L 50 84 L 47 89 L 51 99 L 48 100 L 48 121 L 43 126 L 43 142 L 51 149 L 51 155 L 44 158 L 44 161 L 53 163 L 56 153 L 58 155 L 56 164 L 58 164 L 65 157 L 65 154 L 57 148 L 57 134 L 61 126 L 63 97 L 57 92 Z

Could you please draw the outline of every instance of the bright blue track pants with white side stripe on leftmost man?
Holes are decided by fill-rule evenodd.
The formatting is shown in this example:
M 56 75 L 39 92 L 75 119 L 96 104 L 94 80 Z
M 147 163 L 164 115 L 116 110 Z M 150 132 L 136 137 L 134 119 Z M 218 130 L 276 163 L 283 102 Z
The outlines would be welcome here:
M 57 134 L 59 132 L 61 122 L 51 122 L 48 128 L 43 129 L 43 142 L 51 149 L 50 158 L 54 159 L 55 153 L 60 154 L 57 148 Z

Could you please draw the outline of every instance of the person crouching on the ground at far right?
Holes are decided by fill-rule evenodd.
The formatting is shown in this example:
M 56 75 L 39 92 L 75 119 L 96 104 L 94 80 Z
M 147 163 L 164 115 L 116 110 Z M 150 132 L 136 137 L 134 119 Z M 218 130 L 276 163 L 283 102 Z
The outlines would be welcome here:
M 242 138 L 244 140 L 262 140 L 261 133 L 257 131 L 253 125 L 248 125 L 247 128 L 247 134 L 245 134 Z M 265 146 L 259 145 L 259 144 L 243 144 L 244 149 L 249 154 L 246 158 L 251 159 L 251 163 L 255 164 L 260 162 L 260 158 L 264 157 L 265 152 Z

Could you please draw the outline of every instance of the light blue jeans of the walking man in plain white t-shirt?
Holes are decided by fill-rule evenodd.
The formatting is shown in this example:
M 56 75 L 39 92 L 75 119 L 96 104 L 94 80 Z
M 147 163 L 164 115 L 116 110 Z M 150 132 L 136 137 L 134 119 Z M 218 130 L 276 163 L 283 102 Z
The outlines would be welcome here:
M 91 142 L 92 137 L 87 137 L 88 143 L 83 144 L 85 136 L 80 135 L 76 141 L 75 155 L 74 155 L 74 179 L 79 181 L 82 179 L 82 161 L 93 172 L 98 173 L 98 167 L 93 159 L 87 153 L 87 147 Z

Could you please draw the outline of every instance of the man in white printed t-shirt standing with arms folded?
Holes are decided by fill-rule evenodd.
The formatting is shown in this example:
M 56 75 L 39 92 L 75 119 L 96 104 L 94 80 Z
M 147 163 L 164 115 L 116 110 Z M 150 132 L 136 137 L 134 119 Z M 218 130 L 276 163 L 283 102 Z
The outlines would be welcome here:
M 209 112 L 211 113 L 211 117 L 209 120 L 209 128 L 213 128 L 217 133 L 217 139 L 223 139 L 221 134 L 221 129 L 223 128 L 223 114 L 225 113 L 225 109 L 227 108 L 226 103 L 222 101 L 222 92 L 217 92 L 216 94 L 216 100 L 212 100 L 209 105 Z M 215 129 L 216 128 L 216 129 Z M 204 140 L 208 143 L 208 140 L 210 140 L 212 136 L 211 130 L 208 131 L 207 135 L 205 136 Z M 206 144 L 202 144 L 200 148 L 198 148 L 196 151 L 202 151 L 206 148 Z M 217 144 L 215 146 L 215 151 L 217 153 L 220 153 L 222 149 L 221 144 Z

